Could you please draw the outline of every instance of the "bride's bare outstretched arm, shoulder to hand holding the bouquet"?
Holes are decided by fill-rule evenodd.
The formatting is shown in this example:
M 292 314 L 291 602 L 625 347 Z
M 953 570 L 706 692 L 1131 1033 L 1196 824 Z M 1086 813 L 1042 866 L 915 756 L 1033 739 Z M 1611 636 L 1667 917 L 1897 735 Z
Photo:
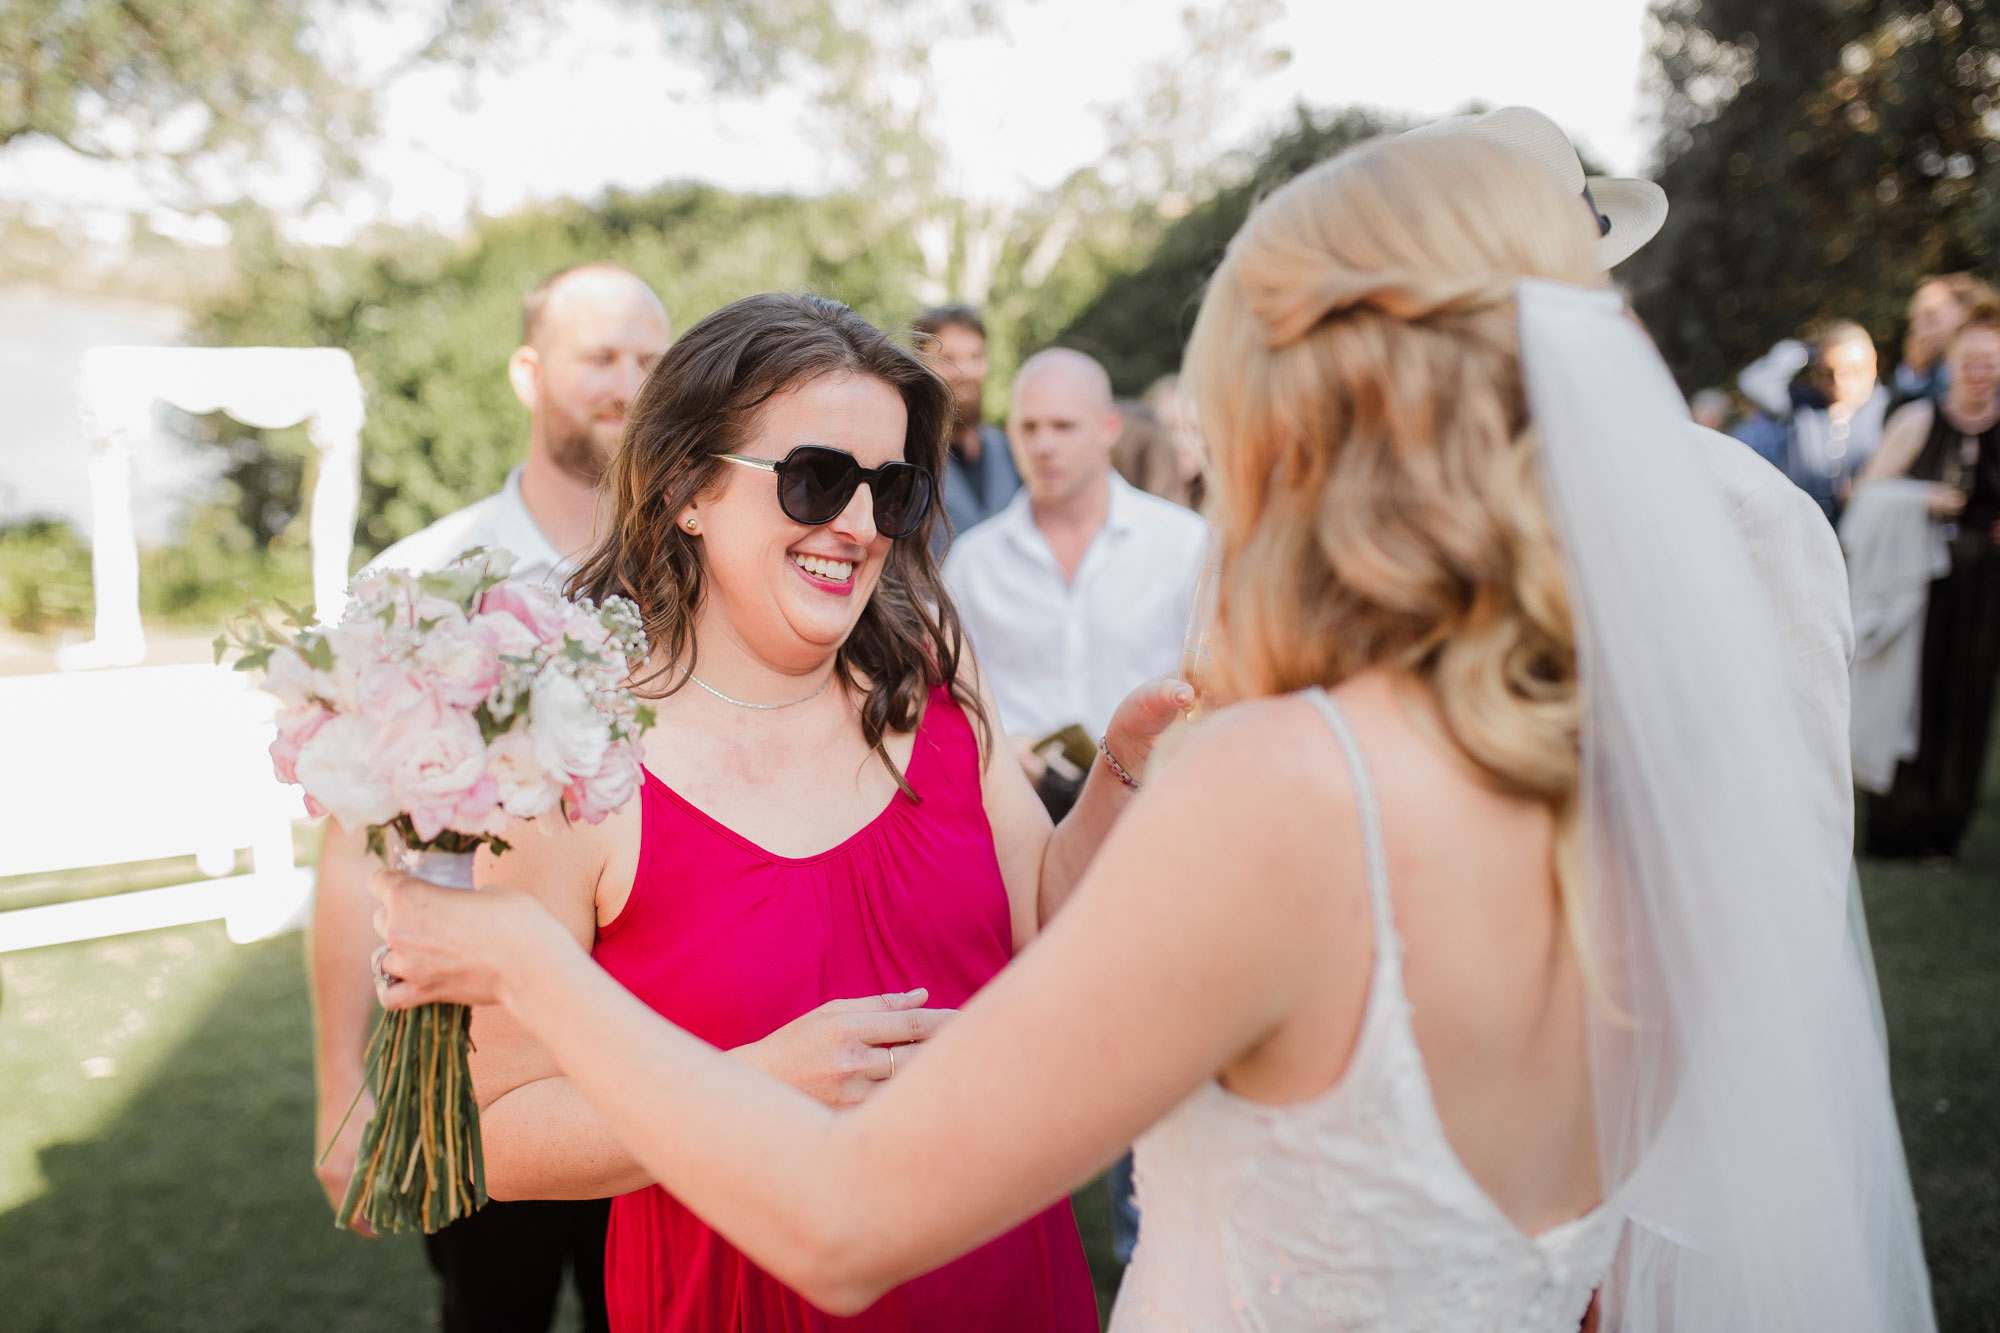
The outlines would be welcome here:
M 850 1115 L 716 1059 L 520 897 L 378 877 L 390 963 L 412 977 L 390 1003 L 498 995 L 654 1179 L 808 1299 L 862 1309 L 1088 1179 L 1308 981 L 1366 985 L 1366 931 L 1328 949 L 1346 939 L 1330 913 L 1362 901 L 1360 849 L 1354 821 L 1326 819 L 1338 759 L 1296 745 L 1306 707 L 1194 737 L 1046 939 Z

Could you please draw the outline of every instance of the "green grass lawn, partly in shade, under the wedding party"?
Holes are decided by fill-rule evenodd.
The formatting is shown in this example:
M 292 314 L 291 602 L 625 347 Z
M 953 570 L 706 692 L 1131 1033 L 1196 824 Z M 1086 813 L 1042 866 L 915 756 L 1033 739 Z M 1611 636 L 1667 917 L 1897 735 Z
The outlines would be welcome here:
M 1862 867 L 1948 1333 L 2000 1331 L 2000 783 L 1988 793 L 1958 865 Z M 50 897 L 0 883 L 0 907 Z M 334 1231 L 312 1181 L 300 949 L 206 925 L 0 955 L 0 1327 L 434 1327 L 420 1243 Z M 1078 1223 L 1108 1299 L 1100 1189 L 1078 1195 Z

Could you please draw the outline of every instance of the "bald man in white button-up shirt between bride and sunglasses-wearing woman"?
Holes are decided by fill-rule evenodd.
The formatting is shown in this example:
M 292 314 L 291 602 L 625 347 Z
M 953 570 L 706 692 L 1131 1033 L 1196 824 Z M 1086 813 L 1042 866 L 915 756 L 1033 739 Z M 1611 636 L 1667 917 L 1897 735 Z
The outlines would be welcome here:
M 1040 743 L 1066 727 L 1102 737 L 1132 687 L 1178 671 L 1188 636 L 1208 524 L 1112 470 L 1118 430 L 1104 366 L 1068 348 L 1028 358 L 1008 412 L 1024 488 L 944 562 L 1000 727 L 1038 787 Z

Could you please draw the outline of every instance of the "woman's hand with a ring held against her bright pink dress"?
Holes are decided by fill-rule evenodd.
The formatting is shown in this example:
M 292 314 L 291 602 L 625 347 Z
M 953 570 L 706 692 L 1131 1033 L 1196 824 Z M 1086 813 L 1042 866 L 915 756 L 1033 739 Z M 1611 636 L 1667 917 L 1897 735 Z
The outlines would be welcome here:
M 956 1009 L 922 1009 L 928 993 L 868 995 L 828 1001 L 764 1041 L 732 1055 L 774 1075 L 836 1111 L 860 1105 L 916 1059 Z

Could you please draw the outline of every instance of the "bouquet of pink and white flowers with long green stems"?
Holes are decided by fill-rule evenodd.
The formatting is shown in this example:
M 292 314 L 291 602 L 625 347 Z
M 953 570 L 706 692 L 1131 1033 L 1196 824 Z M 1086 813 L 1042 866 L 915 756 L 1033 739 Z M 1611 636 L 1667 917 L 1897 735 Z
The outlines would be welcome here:
M 306 809 L 452 889 L 472 887 L 480 847 L 508 851 L 508 819 L 596 823 L 630 801 L 652 725 L 626 689 L 646 656 L 638 606 L 506 582 L 512 562 L 480 548 L 434 574 L 364 574 L 338 624 L 280 602 L 280 622 L 254 610 L 216 638 L 218 662 L 234 646 L 238 671 L 264 671 L 272 767 Z M 462 1005 L 376 1023 L 376 1113 L 338 1225 L 436 1231 L 486 1203 L 468 1029 Z

